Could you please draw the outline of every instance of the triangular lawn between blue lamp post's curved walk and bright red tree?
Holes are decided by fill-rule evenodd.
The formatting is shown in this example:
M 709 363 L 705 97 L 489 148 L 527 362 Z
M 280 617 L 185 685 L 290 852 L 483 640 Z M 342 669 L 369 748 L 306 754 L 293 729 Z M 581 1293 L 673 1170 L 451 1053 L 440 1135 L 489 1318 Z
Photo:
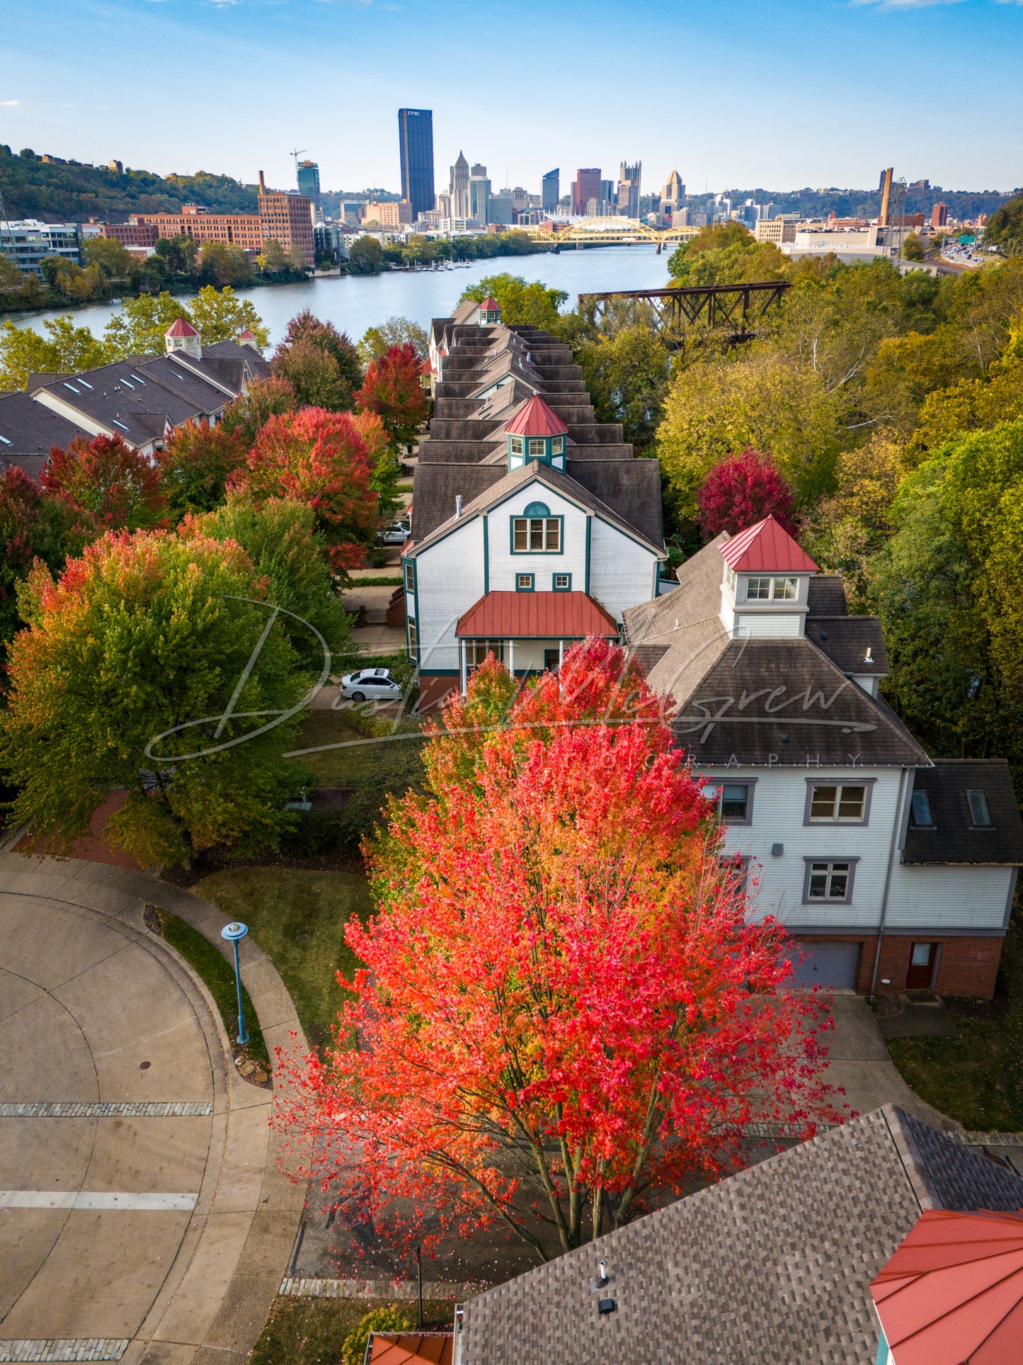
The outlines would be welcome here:
M 346 994 L 334 973 L 346 976 L 359 961 L 345 943 L 352 916 L 372 909 L 370 887 L 359 872 L 304 868 L 226 868 L 198 882 L 196 895 L 240 919 L 288 987 L 314 1047 L 330 1039 Z

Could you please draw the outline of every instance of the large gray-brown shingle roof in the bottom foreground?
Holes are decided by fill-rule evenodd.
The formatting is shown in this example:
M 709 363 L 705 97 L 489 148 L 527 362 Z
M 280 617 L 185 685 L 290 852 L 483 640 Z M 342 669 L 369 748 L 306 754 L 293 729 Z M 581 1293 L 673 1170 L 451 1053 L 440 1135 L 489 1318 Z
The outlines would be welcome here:
M 869 1282 L 923 1208 L 981 1207 L 1023 1179 L 885 1106 L 469 1299 L 462 1365 L 869 1365 Z

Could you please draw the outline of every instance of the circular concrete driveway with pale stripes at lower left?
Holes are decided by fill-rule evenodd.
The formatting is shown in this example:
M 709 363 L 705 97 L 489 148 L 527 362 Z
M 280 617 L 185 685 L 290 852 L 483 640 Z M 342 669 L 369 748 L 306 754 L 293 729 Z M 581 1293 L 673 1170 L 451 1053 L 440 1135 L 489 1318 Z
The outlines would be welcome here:
M 276 1170 L 271 1093 L 139 891 L 211 912 L 120 868 L 0 857 L 0 1360 L 244 1358 L 286 1267 L 303 1192 Z

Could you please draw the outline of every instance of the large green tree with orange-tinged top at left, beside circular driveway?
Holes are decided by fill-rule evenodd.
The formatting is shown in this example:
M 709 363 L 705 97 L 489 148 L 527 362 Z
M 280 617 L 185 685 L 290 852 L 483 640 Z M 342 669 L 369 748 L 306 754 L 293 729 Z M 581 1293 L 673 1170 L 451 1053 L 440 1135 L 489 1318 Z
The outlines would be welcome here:
M 37 566 L 0 718 L 15 824 L 67 849 L 120 789 L 105 834 L 145 867 L 276 849 L 301 781 L 281 756 L 297 722 L 232 741 L 310 678 L 274 625 L 229 713 L 270 614 L 244 599 L 263 594 L 240 546 L 168 531 L 108 532 L 56 580 Z

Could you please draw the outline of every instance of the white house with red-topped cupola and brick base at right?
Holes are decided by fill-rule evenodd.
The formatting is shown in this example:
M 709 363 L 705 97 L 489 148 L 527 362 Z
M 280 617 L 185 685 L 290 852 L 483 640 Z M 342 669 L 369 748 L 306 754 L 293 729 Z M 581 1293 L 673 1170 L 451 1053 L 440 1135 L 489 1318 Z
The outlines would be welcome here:
M 753 915 L 807 954 L 797 977 L 990 996 L 1023 861 L 1008 766 L 923 752 L 878 695 L 880 621 L 848 616 L 842 580 L 768 517 L 625 622 Z

